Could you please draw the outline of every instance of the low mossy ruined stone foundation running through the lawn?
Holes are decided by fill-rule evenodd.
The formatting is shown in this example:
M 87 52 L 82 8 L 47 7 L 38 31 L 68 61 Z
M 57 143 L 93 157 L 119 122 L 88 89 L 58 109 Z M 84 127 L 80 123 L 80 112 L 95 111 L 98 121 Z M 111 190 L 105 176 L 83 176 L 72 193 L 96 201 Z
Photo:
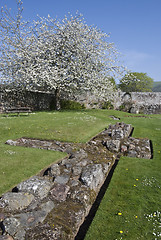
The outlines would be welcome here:
M 67 152 L 68 157 L 1 196 L 5 233 L 0 240 L 74 239 L 116 158 L 151 158 L 150 141 L 130 137 L 132 130 L 130 124 L 116 123 L 87 144 L 8 140 L 13 146 Z

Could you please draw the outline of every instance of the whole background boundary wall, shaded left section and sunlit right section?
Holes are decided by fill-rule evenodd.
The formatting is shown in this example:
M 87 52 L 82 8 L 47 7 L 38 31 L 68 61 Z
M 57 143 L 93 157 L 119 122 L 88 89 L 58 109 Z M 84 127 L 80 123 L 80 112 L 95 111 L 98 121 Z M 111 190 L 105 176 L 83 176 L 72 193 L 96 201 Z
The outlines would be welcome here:
M 72 97 L 63 95 L 62 98 L 75 100 L 84 104 L 87 109 L 102 108 L 104 102 L 111 101 L 114 109 L 124 109 L 131 113 L 161 114 L 161 92 L 115 92 L 106 98 L 98 98 L 89 92 Z M 34 111 L 54 108 L 54 93 L 23 92 L 19 95 L 15 90 L 0 90 L 0 110 L 10 106 L 31 107 Z

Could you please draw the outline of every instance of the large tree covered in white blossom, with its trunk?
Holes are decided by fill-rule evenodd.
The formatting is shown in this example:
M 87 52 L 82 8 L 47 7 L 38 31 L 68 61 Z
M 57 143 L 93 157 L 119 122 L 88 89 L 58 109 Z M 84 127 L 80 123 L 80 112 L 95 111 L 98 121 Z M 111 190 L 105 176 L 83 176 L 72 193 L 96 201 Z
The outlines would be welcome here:
M 91 91 L 104 96 L 113 91 L 111 76 L 122 73 L 118 52 L 109 35 L 88 26 L 82 15 L 60 21 L 39 18 L 22 21 L 22 2 L 17 15 L 1 11 L 0 71 L 2 79 L 25 89 L 45 89 L 68 95 Z M 57 109 L 60 108 L 59 101 Z

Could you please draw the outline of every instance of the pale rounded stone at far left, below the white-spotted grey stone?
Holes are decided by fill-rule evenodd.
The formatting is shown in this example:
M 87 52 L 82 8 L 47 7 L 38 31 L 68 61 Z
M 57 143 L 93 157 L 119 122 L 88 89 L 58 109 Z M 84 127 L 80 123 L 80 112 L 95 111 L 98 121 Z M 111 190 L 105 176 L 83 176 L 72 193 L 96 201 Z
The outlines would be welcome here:
M 22 192 L 8 192 L 2 196 L 2 201 L 5 202 L 6 207 L 11 211 L 23 210 L 28 207 L 33 200 L 34 196 L 32 194 Z

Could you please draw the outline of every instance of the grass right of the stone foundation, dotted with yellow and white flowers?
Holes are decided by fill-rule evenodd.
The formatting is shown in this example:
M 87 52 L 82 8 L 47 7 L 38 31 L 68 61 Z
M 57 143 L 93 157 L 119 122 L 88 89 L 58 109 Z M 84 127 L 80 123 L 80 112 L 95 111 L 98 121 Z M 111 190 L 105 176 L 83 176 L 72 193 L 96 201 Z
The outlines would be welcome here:
M 121 120 L 152 140 L 154 158 L 121 157 L 85 240 L 161 239 L 161 115 Z

